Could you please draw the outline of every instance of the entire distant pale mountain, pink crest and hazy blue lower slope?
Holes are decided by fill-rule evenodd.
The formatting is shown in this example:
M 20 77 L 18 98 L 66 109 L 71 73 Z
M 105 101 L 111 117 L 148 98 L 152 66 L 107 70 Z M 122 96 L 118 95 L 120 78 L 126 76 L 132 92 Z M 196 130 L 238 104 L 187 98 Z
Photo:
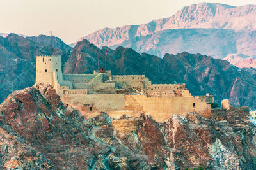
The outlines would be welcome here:
M 198 3 L 147 24 L 104 28 L 89 34 L 91 43 L 129 47 L 158 57 L 165 53 L 204 53 L 221 59 L 229 53 L 255 56 L 256 6 Z

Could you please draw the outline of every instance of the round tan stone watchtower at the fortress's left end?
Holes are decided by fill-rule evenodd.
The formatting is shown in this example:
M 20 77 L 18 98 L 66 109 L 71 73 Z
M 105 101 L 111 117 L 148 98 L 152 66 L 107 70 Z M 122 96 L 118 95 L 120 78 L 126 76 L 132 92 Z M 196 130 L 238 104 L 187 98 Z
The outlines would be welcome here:
M 55 81 L 55 82 L 54 82 Z M 36 83 L 55 85 L 62 81 L 61 57 L 37 56 L 36 57 Z

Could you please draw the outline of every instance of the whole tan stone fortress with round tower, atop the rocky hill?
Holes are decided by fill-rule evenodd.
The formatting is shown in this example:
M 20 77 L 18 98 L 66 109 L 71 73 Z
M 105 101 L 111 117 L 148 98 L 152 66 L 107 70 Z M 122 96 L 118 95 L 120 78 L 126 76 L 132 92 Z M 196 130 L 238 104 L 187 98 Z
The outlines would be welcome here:
M 63 74 L 60 56 L 37 56 L 36 83 L 54 86 L 65 103 L 85 115 L 104 111 L 110 117 L 136 117 L 147 113 L 164 122 L 173 114 L 196 111 L 211 118 L 207 103 L 213 103 L 213 96 L 194 97 L 185 84 L 152 84 L 144 75 L 118 76 L 104 69 L 93 74 Z

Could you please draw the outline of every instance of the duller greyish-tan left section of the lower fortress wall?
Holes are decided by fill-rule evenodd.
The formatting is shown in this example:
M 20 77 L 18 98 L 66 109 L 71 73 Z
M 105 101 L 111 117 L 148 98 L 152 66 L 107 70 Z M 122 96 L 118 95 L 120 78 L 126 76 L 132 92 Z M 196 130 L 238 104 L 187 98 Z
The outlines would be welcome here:
M 92 106 L 93 111 L 116 111 L 124 110 L 124 94 L 88 94 L 81 96 L 65 96 L 67 103 L 76 106 Z

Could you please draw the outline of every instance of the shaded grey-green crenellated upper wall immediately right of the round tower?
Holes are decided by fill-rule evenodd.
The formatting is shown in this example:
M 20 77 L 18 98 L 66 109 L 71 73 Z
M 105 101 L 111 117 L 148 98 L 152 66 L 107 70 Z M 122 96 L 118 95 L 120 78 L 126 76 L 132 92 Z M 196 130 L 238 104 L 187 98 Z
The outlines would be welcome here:
M 95 77 L 94 74 L 63 74 L 63 80 L 73 83 L 88 83 Z

